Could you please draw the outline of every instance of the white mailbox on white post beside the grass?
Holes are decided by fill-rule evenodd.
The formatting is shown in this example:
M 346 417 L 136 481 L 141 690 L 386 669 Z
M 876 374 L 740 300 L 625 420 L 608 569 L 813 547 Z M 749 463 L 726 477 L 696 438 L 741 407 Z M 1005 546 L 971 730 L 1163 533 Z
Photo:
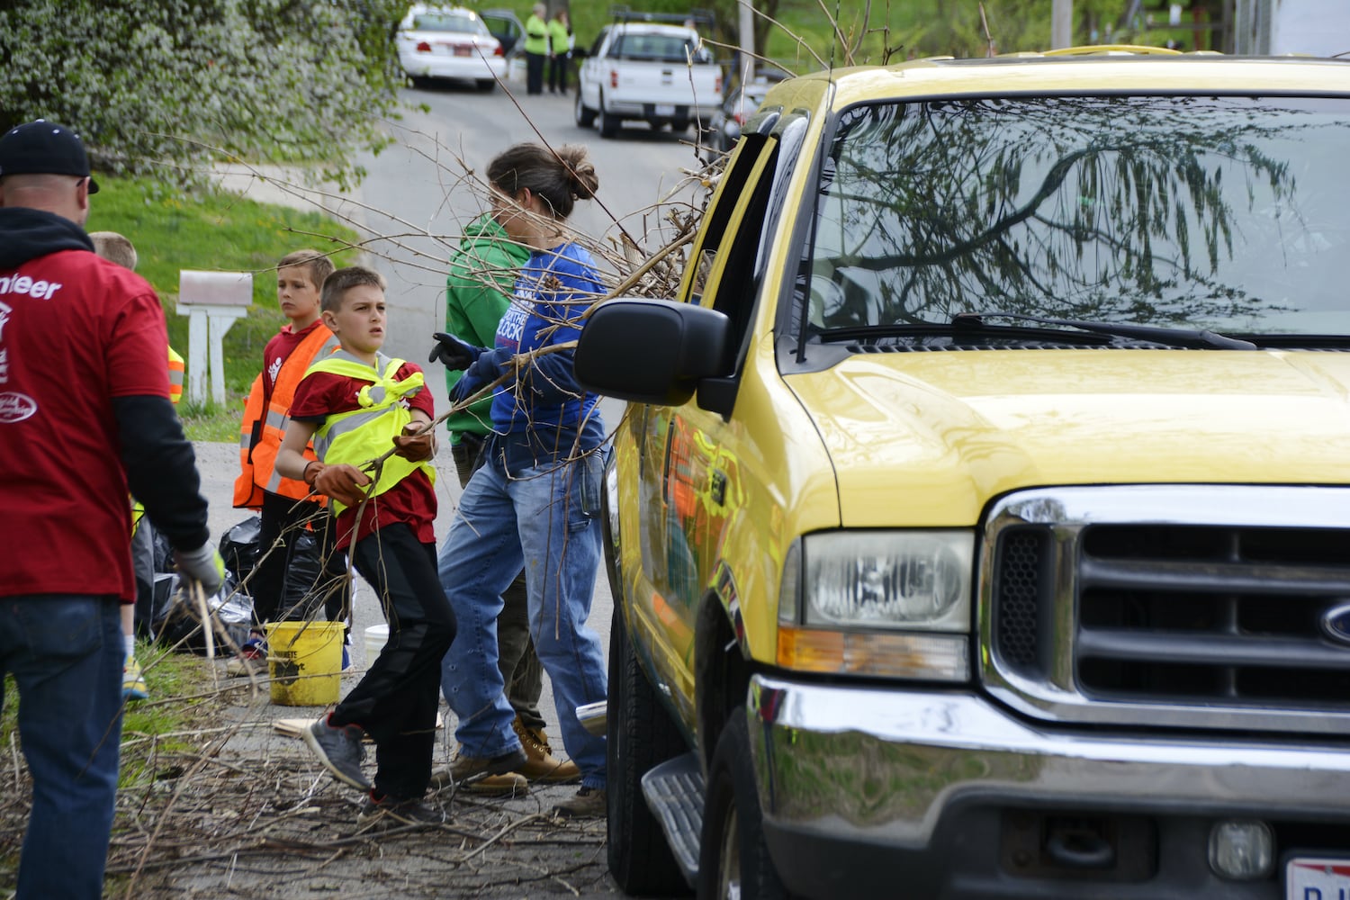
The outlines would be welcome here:
M 207 366 L 211 366 L 211 398 L 225 402 L 225 356 L 221 339 L 236 318 L 248 314 L 252 273 L 178 273 L 178 314 L 188 316 L 188 399 L 207 398 Z

